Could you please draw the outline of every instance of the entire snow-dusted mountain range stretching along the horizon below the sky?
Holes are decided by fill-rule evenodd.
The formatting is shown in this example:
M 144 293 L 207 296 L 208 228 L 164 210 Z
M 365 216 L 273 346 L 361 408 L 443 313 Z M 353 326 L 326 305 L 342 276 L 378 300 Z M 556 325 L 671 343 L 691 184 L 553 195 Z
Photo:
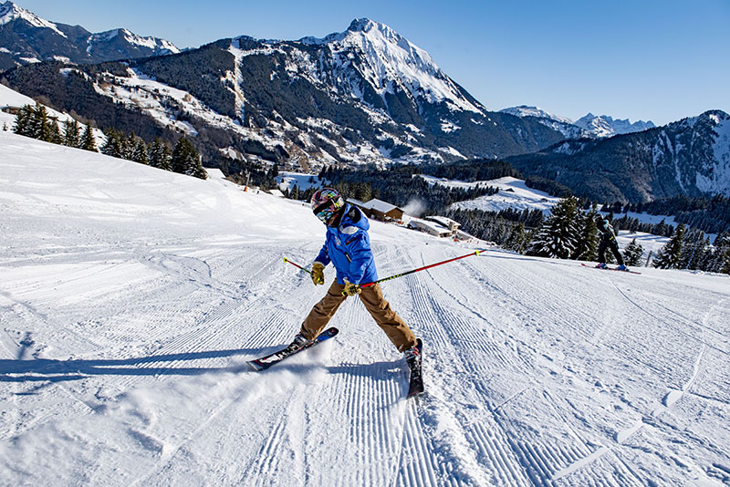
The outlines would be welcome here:
M 725 112 L 655 128 L 535 107 L 490 111 L 426 51 L 370 19 L 323 38 L 238 36 L 183 52 L 148 38 L 143 56 L 145 43 L 124 29 L 76 26 L 71 36 L 11 2 L 0 8 L 0 54 L 13 65 L 0 75 L 5 85 L 100 128 L 188 136 L 206 165 L 224 171 L 506 159 L 595 200 L 730 194 Z M 72 37 L 78 57 L 64 50 Z M 13 57 L 30 45 L 45 47 L 26 60 L 46 60 Z

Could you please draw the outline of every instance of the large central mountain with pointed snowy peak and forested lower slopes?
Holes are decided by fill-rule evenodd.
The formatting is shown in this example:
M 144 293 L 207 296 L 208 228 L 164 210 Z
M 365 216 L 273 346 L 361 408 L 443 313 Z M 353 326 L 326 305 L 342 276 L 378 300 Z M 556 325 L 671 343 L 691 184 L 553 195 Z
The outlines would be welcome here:
M 123 123 L 187 133 L 211 165 L 265 160 L 308 171 L 494 159 L 564 139 L 485 109 L 427 52 L 369 19 L 324 38 L 239 36 L 125 64 L 18 67 L 5 82 L 102 127 L 133 118 Z

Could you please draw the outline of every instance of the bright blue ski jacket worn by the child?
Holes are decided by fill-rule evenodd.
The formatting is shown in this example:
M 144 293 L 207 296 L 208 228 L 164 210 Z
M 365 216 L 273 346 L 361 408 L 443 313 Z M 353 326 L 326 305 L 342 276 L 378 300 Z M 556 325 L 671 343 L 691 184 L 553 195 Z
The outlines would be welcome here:
M 378 280 L 375 261 L 370 249 L 370 223 L 359 208 L 349 203 L 342 220 L 336 227 L 327 227 L 327 238 L 315 262 L 327 266 L 330 262 L 337 271 L 337 282 L 366 284 Z

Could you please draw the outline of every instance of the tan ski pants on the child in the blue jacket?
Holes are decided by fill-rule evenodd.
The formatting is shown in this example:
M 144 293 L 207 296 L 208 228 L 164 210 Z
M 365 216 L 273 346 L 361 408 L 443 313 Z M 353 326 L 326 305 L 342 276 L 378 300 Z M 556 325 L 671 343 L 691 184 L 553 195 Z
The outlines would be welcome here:
M 329 286 L 327 295 L 312 308 L 302 323 L 301 333 L 304 337 L 311 340 L 327 326 L 332 316 L 335 316 L 339 305 L 345 300 L 345 296 L 342 295 L 344 288 L 344 285 L 337 284 L 337 280 Z M 363 288 L 359 296 L 365 309 L 370 312 L 370 316 L 375 319 L 399 352 L 415 346 L 416 337 L 413 336 L 411 328 L 391 309 L 391 305 L 382 295 L 380 285 Z

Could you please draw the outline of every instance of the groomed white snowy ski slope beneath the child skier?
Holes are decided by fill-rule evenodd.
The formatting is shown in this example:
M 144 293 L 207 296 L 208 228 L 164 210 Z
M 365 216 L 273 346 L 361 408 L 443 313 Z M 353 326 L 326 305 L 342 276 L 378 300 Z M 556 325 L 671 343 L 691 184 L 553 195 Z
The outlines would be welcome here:
M 381 276 L 471 252 L 372 223 Z M 730 485 L 730 277 L 488 251 L 323 295 L 306 207 L 0 131 L 0 484 Z M 326 270 L 333 278 L 331 267 Z

